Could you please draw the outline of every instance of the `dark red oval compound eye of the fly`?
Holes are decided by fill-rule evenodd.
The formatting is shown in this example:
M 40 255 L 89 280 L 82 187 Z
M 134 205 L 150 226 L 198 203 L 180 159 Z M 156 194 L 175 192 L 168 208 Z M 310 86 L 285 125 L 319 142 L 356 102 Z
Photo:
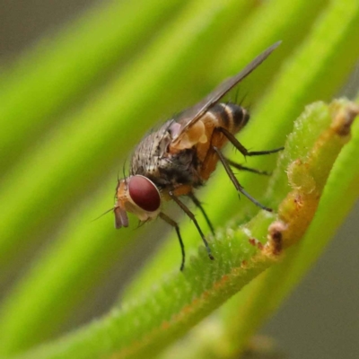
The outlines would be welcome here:
M 158 189 L 144 176 L 133 176 L 128 181 L 128 193 L 137 206 L 144 211 L 156 211 L 161 205 Z

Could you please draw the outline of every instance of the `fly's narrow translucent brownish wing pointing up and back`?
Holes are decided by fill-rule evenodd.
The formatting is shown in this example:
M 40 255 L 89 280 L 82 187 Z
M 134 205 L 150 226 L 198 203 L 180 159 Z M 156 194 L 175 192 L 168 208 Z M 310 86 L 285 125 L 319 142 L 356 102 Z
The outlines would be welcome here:
M 263 51 L 258 57 L 256 57 L 249 65 L 243 68 L 239 74 L 225 80 L 221 83 L 213 92 L 205 97 L 204 100 L 197 103 L 197 105 L 184 110 L 176 118 L 176 122 L 180 124 L 180 130 L 177 131 L 177 136 L 173 138 L 173 142 L 180 140 L 181 134 L 183 134 L 188 127 L 191 127 L 201 118 L 208 109 L 210 109 L 216 102 L 221 100 L 223 96 L 232 90 L 232 88 L 240 83 L 246 76 L 248 76 L 256 67 L 258 67 L 280 44 L 282 41 L 277 41 L 270 48 Z

